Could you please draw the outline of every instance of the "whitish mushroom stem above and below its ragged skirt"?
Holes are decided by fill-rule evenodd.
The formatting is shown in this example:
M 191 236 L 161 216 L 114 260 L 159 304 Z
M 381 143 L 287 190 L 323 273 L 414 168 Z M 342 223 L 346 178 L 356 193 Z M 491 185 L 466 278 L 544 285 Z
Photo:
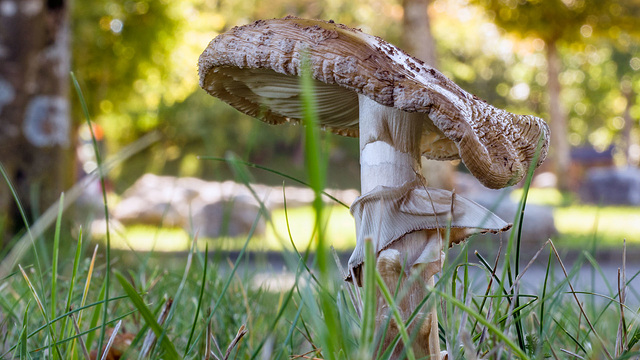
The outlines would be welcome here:
M 362 194 L 370 193 L 378 186 L 395 188 L 408 183 L 424 184 L 420 163 L 424 114 L 387 107 L 362 95 L 359 96 L 359 110 Z M 393 219 L 385 215 L 389 214 L 381 212 L 379 221 L 395 226 Z M 375 234 L 372 235 L 376 254 L 379 255 L 376 267 L 387 286 L 395 289 L 399 281 L 403 287 L 408 286 L 400 291 L 406 295 L 397 301 L 406 320 L 426 296 L 426 286 L 433 286 L 433 275 L 441 269 L 441 239 L 437 231 L 418 230 L 403 235 L 384 249 Z M 401 271 L 403 263 L 406 273 Z M 408 277 L 412 277 L 411 281 Z M 377 307 L 376 331 L 383 331 L 389 308 L 381 296 Z M 414 324 L 420 326 L 411 344 L 415 355 L 440 359 L 435 304 L 424 308 Z M 409 330 L 415 331 L 415 328 L 416 325 L 412 325 Z M 392 323 L 382 339 L 383 344 L 390 345 L 396 334 L 397 327 Z M 402 347 L 398 346 L 393 358 L 401 353 Z

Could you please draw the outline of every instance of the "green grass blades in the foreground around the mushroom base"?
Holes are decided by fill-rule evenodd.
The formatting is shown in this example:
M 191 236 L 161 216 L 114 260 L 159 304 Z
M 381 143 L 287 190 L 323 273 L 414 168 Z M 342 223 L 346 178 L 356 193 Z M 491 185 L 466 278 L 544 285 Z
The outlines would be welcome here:
M 286 230 L 284 231 L 286 234 Z M 33 258 L 21 262 L 25 276 L 14 272 L 0 282 L 3 295 L 0 299 L 0 312 L 3 314 L 0 327 L 7 329 L 0 338 L 4 358 L 56 358 L 57 355 L 54 354 L 59 351 L 61 355 L 57 358 L 83 359 L 80 339 L 86 343 L 88 351 L 96 349 L 101 309 L 104 309 L 101 307 L 104 296 L 104 248 L 98 250 L 95 266 L 92 268 L 93 245 L 74 240 L 69 233 L 70 229 L 61 229 L 58 239 L 58 281 L 55 288 L 47 287 L 44 293 L 40 293 L 36 287 L 29 285 L 27 278 L 32 284 L 52 283 L 53 268 L 44 268 L 42 275 L 38 275 Z M 254 241 L 259 241 L 259 238 L 245 238 L 249 245 Z M 77 247 L 81 251 L 76 252 Z M 311 355 L 325 359 L 370 358 L 370 354 L 375 353 L 377 344 L 375 338 L 371 338 L 372 322 L 360 318 L 356 311 L 356 308 L 367 306 L 369 309 L 375 308 L 367 305 L 375 303 L 375 296 L 371 296 L 375 293 L 369 292 L 367 296 L 363 293 L 363 299 L 368 299 L 365 303 L 352 302 L 351 285 L 342 283 L 335 271 L 325 280 L 328 282 L 316 282 L 312 273 L 317 268 L 312 266 L 312 273 L 308 272 L 299 266 L 298 257 L 293 253 L 285 257 L 288 259 L 288 271 L 294 276 L 297 274 L 294 283 L 289 288 L 266 290 L 255 284 L 254 276 L 259 271 L 256 265 L 248 264 L 241 257 L 232 267 L 225 258 L 207 258 L 204 249 L 199 251 L 197 248 L 194 246 L 194 252 L 188 253 L 192 254 L 190 259 L 186 256 L 171 257 L 170 262 L 166 258 L 156 261 L 155 255 L 140 253 L 139 261 L 132 265 L 129 262 L 119 262 L 119 256 L 115 255 L 117 281 L 111 283 L 107 328 L 111 329 L 118 321 L 122 321 L 120 331 L 126 330 L 133 334 L 131 346 L 117 345 L 120 351 L 126 352 L 126 358 L 139 358 L 140 352 L 145 348 L 144 337 L 150 332 L 155 337 L 164 337 L 162 343 L 156 343 L 147 350 L 151 354 L 150 358 L 161 356 L 167 359 L 201 359 L 207 346 L 218 354 L 212 339 L 221 348 L 223 354 L 218 355 L 222 358 L 227 346 L 233 342 L 238 329 L 243 325 L 248 332 L 230 351 L 231 358 L 288 359 L 290 356 L 305 354 L 314 349 L 314 346 L 318 350 Z M 543 257 L 546 254 L 549 254 L 549 246 L 543 251 Z M 529 259 L 529 256 L 525 256 L 523 262 Z M 504 264 L 503 261 L 498 260 L 499 266 Z M 560 263 L 553 254 L 549 258 L 550 274 L 545 279 L 543 289 L 535 293 L 519 294 L 523 300 L 520 302 L 519 317 L 523 328 L 524 348 L 518 345 L 513 319 L 516 309 L 510 301 L 513 299 L 511 295 L 504 293 L 506 291 L 509 294 L 508 282 L 495 278 L 491 284 L 488 283 L 492 278 L 490 275 L 493 265 L 490 264 L 493 262 L 494 259 L 489 259 L 483 263 L 472 256 L 468 260 L 464 257 L 451 259 L 443 270 L 447 277 L 443 275 L 443 280 L 436 285 L 440 301 L 449 306 L 445 307 L 448 309 L 446 313 L 439 314 L 442 338 L 450 343 L 458 339 L 450 347 L 453 346 L 460 356 L 471 351 L 471 348 L 481 353 L 502 348 L 504 353 L 497 357 L 500 359 L 553 358 L 554 352 L 558 358 L 569 358 L 562 349 L 584 358 L 605 358 L 603 347 L 614 354 L 617 327 L 621 318 L 620 306 L 615 301 L 603 301 L 591 289 L 576 289 L 584 292 L 579 295 L 584 307 L 583 314 L 568 292 L 570 288 L 567 278 L 574 283 L 577 272 L 574 271 L 575 268 L 570 268 L 567 270 L 568 277 L 565 278 Z M 589 265 L 586 257 L 575 266 L 581 263 L 587 267 L 595 266 L 594 269 L 597 270 L 597 263 Z M 475 276 L 465 274 L 465 266 L 480 268 L 482 271 Z M 336 266 L 331 267 L 335 269 Z M 239 271 L 232 272 L 232 269 Z M 457 276 L 452 278 L 454 273 Z M 627 278 L 632 275 L 627 274 Z M 524 276 L 527 280 L 526 274 Z M 598 271 L 594 271 L 591 276 L 598 277 Z M 85 295 L 88 279 L 91 281 Z M 378 284 L 383 285 L 379 280 Z M 616 299 L 618 295 L 615 288 L 613 285 L 613 290 L 603 295 Z M 460 291 L 461 289 L 465 291 Z M 366 291 L 368 290 L 365 289 Z M 339 321 L 334 325 L 322 320 L 325 318 L 325 310 L 319 303 L 320 293 L 324 293 L 325 301 L 335 308 Z M 393 291 L 384 293 L 385 297 L 392 299 Z M 38 305 L 36 295 L 41 305 Z M 173 300 L 173 305 L 167 309 L 170 299 Z M 34 312 L 37 308 L 47 309 L 49 316 L 44 317 L 42 312 Z M 157 321 L 161 318 L 161 313 L 172 309 L 174 313 L 170 325 L 166 325 L 167 320 Z M 634 339 L 632 335 L 638 329 L 633 320 L 636 315 L 634 309 L 629 308 L 625 308 L 624 313 L 627 321 L 627 343 L 630 343 Z M 594 330 L 586 325 L 585 315 L 592 322 Z M 80 317 L 81 320 L 78 320 Z M 80 337 L 72 326 L 74 321 L 80 322 Z M 362 326 L 369 329 L 368 332 L 362 332 Z M 483 329 L 488 330 L 484 337 Z M 333 345 L 335 354 L 330 357 L 326 354 L 326 347 L 321 345 L 323 341 L 330 341 L 323 340 L 323 337 L 335 334 L 343 340 Z M 89 341 L 89 338 L 92 340 Z M 207 338 L 211 339 L 208 343 L 205 340 Z M 55 350 L 53 339 L 57 342 L 58 350 Z M 107 340 L 108 338 L 105 339 L 105 344 Z M 442 344 L 443 349 L 446 342 Z M 361 348 L 360 344 L 365 348 Z M 509 351 L 511 355 L 507 355 Z M 517 353 L 520 354 L 519 357 L 514 355 Z M 487 358 L 496 358 L 495 356 L 497 355 L 493 354 Z

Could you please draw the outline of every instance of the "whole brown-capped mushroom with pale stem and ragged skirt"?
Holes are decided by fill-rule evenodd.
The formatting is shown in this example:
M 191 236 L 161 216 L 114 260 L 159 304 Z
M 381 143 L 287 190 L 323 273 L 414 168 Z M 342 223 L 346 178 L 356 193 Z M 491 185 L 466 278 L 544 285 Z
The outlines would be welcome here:
M 398 273 L 405 268 L 433 284 L 442 267 L 442 229 L 450 226 L 451 245 L 474 233 L 510 228 L 470 200 L 427 188 L 420 157 L 461 159 L 489 188 L 514 185 L 531 166 L 540 139 L 534 166 L 546 157 L 546 123 L 487 104 L 378 37 L 333 21 L 259 20 L 209 43 L 199 59 L 200 86 L 267 123 L 300 122 L 305 57 L 320 125 L 360 137 L 362 195 L 351 206 L 357 244 L 349 279 L 360 284 L 366 238 L 373 240 L 377 267 L 388 281 L 406 276 Z M 421 288 L 400 304 L 406 316 L 422 300 Z M 384 318 L 381 309 L 378 314 Z M 437 359 L 435 311 L 423 319 L 425 339 L 414 351 Z

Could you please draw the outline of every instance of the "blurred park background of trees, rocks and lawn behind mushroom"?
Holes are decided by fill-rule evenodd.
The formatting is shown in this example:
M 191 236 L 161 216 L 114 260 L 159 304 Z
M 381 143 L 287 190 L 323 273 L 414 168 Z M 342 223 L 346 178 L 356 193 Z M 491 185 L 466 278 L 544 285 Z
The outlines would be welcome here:
M 263 124 L 207 95 L 198 86 L 197 60 L 217 34 L 286 15 L 360 28 L 496 107 L 546 119 L 550 157 L 533 180 L 525 218 L 533 243 L 554 236 L 581 247 L 601 234 L 612 246 L 623 239 L 640 244 L 636 0 L 0 0 L 0 162 L 27 221 L 96 169 L 91 133 L 69 78 L 73 71 L 104 158 L 123 159 L 127 146 L 156 134 L 151 145 L 116 161 L 108 173 L 109 205 L 124 238 L 148 237 L 142 223 L 162 227 L 174 244 L 193 234 L 198 216 L 208 219 L 201 228 L 226 216 L 220 223 L 227 225 L 207 237 L 246 235 L 257 214 L 256 204 L 245 199 L 251 194 L 241 185 L 224 185 L 235 179 L 226 163 L 198 156 L 231 152 L 304 180 L 302 131 Z M 355 189 L 340 193 L 350 204 L 360 184 L 358 141 L 324 136 L 327 187 L 333 193 Z M 521 196 L 518 186 L 507 193 L 482 188 L 459 162 L 425 168 L 432 186 L 455 188 L 488 207 L 496 208 L 498 199 L 515 204 Z M 261 194 L 275 199 L 274 222 L 284 219 L 277 215 L 282 176 L 255 170 L 251 177 L 265 185 Z M 6 250 L 24 223 L 5 179 L 0 235 Z M 100 217 L 101 187 L 92 184 L 76 202 L 75 221 Z M 301 213 L 305 196 L 290 199 L 300 202 Z M 212 205 L 220 199 L 235 205 Z M 506 206 L 496 212 L 511 221 L 515 205 Z M 342 220 L 334 220 L 340 226 L 332 236 L 348 249 L 355 244 L 353 225 L 337 208 Z M 248 225 L 233 230 L 228 219 L 241 214 L 249 214 Z

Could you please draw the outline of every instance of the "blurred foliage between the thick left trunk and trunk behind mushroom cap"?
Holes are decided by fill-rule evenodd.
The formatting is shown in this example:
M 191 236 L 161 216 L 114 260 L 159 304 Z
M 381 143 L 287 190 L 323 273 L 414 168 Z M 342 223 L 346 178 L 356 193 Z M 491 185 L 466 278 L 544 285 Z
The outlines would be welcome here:
M 152 130 L 164 135 L 158 146 L 115 172 L 117 189 L 147 171 L 228 178 L 224 164 L 196 159 L 224 156 L 227 150 L 303 174 L 300 129 L 261 124 L 206 96 L 197 84 L 198 56 L 212 38 L 233 26 L 289 14 L 334 19 L 397 39 L 400 26 L 392 25 L 401 20 L 401 8 L 387 0 L 78 2 L 73 11 L 74 69 L 94 119 L 105 130 L 109 152 Z M 346 170 L 344 181 L 329 185 L 357 186 L 357 166 L 345 169 L 347 160 L 357 159 L 357 140 L 328 137 L 333 161 Z

